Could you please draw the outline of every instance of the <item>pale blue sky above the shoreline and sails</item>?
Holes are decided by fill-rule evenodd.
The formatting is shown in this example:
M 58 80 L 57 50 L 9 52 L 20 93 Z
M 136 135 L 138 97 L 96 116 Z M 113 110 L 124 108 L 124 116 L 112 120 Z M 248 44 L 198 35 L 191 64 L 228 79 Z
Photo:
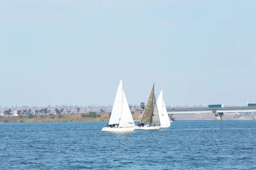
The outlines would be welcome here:
M 256 102 L 255 0 L 2 0 L 0 105 Z M 227 100 L 228 99 L 228 100 Z

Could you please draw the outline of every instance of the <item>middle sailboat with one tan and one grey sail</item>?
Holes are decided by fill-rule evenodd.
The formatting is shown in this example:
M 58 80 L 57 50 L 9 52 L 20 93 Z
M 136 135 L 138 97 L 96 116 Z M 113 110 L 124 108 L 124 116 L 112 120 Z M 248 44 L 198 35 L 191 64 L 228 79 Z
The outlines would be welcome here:
M 149 124 L 145 125 L 145 123 Z M 142 113 L 139 125 L 140 126 L 136 126 L 136 129 L 155 130 L 160 128 L 160 119 L 157 108 L 156 96 L 154 94 L 154 85 L 148 97 L 148 102 L 144 112 Z

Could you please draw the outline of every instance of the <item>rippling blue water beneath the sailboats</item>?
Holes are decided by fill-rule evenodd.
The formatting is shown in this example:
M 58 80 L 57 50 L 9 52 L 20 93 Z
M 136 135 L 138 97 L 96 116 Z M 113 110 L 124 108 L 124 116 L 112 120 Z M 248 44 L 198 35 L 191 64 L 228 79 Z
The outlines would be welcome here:
M 177 121 L 101 132 L 107 122 L 0 123 L 0 169 L 256 169 L 256 121 Z

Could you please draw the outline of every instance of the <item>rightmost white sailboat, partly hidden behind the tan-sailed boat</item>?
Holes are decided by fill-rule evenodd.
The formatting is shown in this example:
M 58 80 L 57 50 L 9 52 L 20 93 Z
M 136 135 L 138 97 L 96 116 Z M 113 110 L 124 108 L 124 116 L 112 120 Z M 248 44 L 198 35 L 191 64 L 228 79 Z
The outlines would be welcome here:
M 157 107 L 158 107 L 161 127 L 170 127 L 172 120 L 168 116 L 167 111 L 166 111 L 166 105 L 164 104 L 164 101 L 163 101 L 163 90 L 161 90 L 161 92 L 158 96 Z

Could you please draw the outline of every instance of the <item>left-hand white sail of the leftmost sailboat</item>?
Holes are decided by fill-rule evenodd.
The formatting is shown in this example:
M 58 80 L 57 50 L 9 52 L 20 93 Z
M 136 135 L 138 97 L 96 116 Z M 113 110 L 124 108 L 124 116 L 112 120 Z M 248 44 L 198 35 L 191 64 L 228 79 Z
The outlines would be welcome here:
M 122 103 L 123 103 L 123 88 L 122 88 L 122 79 L 119 83 L 116 92 L 116 98 L 114 101 L 113 109 L 109 119 L 109 125 L 119 124 L 121 115 L 122 115 Z

